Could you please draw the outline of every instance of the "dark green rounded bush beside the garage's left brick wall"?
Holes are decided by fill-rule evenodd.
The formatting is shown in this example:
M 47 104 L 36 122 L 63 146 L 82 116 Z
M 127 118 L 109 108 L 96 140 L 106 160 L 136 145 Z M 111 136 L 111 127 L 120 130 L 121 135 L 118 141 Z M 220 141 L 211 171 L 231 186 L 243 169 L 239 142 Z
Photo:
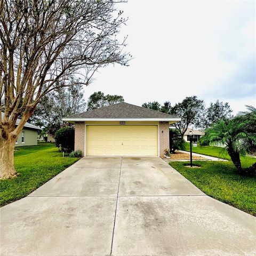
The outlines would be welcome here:
M 60 151 L 70 153 L 75 146 L 75 129 L 72 126 L 62 127 L 55 133 L 55 145 Z

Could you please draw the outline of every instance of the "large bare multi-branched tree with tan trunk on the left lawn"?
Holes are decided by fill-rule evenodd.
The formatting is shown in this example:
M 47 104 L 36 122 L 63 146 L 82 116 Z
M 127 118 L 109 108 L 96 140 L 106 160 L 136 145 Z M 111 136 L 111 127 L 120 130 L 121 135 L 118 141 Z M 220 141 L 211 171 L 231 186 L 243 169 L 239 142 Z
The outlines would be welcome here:
M 87 85 L 99 67 L 126 65 L 125 38 L 116 39 L 126 21 L 116 9 L 120 2 L 0 0 L 1 179 L 17 175 L 15 140 L 44 95 L 76 84 L 66 84 L 71 76 Z

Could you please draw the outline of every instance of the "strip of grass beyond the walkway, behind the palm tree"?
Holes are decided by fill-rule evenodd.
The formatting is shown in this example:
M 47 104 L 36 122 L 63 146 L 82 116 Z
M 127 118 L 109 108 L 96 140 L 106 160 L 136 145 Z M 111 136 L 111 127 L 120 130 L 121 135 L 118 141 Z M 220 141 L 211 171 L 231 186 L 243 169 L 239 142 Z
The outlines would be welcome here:
M 189 143 L 186 143 L 186 151 L 190 151 Z M 213 156 L 226 159 L 230 161 L 230 156 L 227 154 L 226 150 L 220 147 L 214 146 L 197 146 L 192 147 L 192 152 L 206 155 L 206 156 Z M 253 163 L 255 163 L 255 158 L 248 157 L 248 156 L 241 156 L 241 164 L 245 167 L 250 167 Z

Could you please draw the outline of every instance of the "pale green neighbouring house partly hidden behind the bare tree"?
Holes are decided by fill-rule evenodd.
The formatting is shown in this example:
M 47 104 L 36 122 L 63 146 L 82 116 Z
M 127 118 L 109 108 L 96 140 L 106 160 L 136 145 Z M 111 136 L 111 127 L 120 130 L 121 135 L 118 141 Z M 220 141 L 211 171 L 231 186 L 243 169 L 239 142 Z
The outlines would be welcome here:
M 4 113 L 2 113 L 2 118 L 4 117 Z M 16 125 L 20 123 L 20 119 L 17 119 Z M 40 127 L 37 127 L 33 124 L 26 123 L 18 135 L 18 138 L 15 142 L 15 147 L 21 146 L 33 146 L 37 145 L 37 137 L 38 131 L 41 131 Z

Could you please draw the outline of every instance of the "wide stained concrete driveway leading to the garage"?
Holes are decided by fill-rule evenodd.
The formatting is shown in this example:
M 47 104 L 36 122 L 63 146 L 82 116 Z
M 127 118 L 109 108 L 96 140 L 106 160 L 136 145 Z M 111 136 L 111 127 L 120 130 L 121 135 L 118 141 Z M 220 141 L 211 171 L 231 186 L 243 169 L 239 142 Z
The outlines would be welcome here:
M 158 157 L 85 157 L 1 209 L 1 255 L 255 255 L 255 218 Z

